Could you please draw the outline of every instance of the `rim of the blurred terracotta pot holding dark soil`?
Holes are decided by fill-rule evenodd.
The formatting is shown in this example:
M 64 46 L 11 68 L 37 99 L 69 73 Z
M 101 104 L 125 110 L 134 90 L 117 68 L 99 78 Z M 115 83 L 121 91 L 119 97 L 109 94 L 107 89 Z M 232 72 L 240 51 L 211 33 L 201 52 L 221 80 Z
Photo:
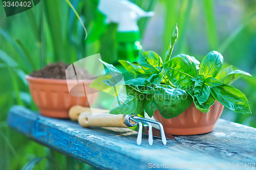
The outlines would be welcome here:
M 34 83 L 67 84 L 66 79 L 49 79 L 49 78 L 33 77 L 29 75 L 26 75 L 25 78 L 28 82 L 34 82 Z M 92 83 L 94 80 L 95 79 L 86 80 L 86 83 Z M 68 81 L 77 83 L 76 80 L 68 80 Z

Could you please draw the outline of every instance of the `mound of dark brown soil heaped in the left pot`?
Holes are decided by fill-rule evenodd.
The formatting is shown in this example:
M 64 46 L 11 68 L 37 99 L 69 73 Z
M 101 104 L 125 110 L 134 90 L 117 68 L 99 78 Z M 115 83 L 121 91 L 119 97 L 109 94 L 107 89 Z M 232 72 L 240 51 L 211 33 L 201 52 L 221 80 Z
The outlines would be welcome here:
M 33 71 L 29 76 L 47 79 L 66 79 L 66 68 L 69 65 L 63 62 L 58 62 L 56 64 L 51 63 L 40 70 Z M 79 69 L 76 70 L 76 72 L 84 78 L 88 77 L 88 71 L 86 69 Z M 76 77 L 69 79 L 76 79 Z

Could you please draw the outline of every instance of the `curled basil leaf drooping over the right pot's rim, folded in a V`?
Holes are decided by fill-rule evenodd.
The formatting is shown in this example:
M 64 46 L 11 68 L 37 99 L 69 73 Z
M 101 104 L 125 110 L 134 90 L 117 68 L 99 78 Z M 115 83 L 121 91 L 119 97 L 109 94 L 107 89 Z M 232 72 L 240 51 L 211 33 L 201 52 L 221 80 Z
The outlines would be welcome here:
M 200 110 L 202 113 L 207 113 L 207 112 L 209 112 L 209 111 L 210 111 L 210 107 L 211 107 L 211 106 L 214 104 L 214 102 L 215 102 L 215 98 L 210 94 L 210 95 L 209 95 L 209 98 L 207 99 L 207 101 L 204 102 L 204 103 L 202 103 L 202 104 L 200 104 L 200 103 L 198 102 L 197 98 L 196 98 L 196 95 L 195 95 L 194 91 L 189 91 L 188 93 L 192 96 L 196 108 L 197 108 L 198 110 Z

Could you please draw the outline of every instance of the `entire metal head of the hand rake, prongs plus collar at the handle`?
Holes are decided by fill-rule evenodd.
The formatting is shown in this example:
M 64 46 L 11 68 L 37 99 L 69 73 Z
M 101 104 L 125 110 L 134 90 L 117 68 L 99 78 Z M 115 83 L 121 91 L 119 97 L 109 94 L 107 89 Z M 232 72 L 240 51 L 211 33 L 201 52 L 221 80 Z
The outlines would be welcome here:
M 135 122 L 136 124 L 132 124 L 131 120 L 133 122 Z M 165 134 L 164 134 L 163 125 L 160 122 L 157 122 L 157 121 L 151 120 L 151 119 L 147 119 L 147 118 L 143 118 L 143 117 L 139 117 L 139 116 L 136 116 L 136 115 L 126 114 L 124 116 L 124 123 L 127 127 L 134 127 L 136 125 L 139 125 L 139 131 L 138 131 L 138 136 L 137 136 L 137 144 L 138 145 L 141 144 L 143 126 L 148 126 L 148 143 L 150 145 L 153 144 L 153 132 L 152 132 L 152 125 L 151 124 L 155 124 L 155 125 L 159 126 L 162 142 L 163 142 L 164 145 L 166 145 L 166 137 L 165 137 Z

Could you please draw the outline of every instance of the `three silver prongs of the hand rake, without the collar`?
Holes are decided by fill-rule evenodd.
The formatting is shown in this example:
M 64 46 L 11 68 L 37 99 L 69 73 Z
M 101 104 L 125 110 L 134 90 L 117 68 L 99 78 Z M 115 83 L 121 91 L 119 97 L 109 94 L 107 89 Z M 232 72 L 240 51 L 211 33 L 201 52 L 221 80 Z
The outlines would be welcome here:
M 130 119 L 132 119 L 134 122 L 136 123 L 143 123 L 143 124 L 147 124 L 148 125 L 148 131 L 152 132 L 152 125 L 148 124 L 148 123 L 152 123 L 152 124 L 156 124 L 159 126 L 160 128 L 160 133 L 161 133 L 161 138 L 162 138 L 162 142 L 164 145 L 166 145 L 166 137 L 165 137 L 165 134 L 164 134 L 164 130 L 163 130 L 163 125 L 160 123 L 160 122 L 157 122 L 155 120 L 151 120 L 151 119 L 147 119 L 147 118 L 143 118 L 143 117 L 138 117 L 138 116 L 131 116 Z M 140 145 L 141 144 L 141 138 L 142 138 L 142 123 L 139 124 L 139 133 L 138 133 L 138 137 L 137 137 L 137 144 Z M 141 132 L 140 132 L 140 129 L 141 129 Z M 151 145 L 151 140 L 152 140 L 152 143 L 153 143 L 153 135 L 152 135 L 152 138 L 150 136 L 150 134 L 148 134 L 148 143 L 150 143 Z M 138 141 L 140 143 L 138 143 Z

